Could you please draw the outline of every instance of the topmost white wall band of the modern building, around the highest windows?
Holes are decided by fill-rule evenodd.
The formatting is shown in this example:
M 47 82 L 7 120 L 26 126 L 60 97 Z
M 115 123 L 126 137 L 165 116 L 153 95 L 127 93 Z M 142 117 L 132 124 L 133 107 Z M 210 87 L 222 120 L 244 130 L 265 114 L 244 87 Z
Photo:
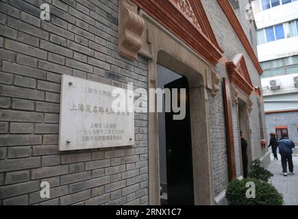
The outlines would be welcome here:
M 293 21 L 298 18 L 298 1 L 262 10 L 261 0 L 252 2 L 253 14 L 258 29 L 271 27 L 278 23 Z

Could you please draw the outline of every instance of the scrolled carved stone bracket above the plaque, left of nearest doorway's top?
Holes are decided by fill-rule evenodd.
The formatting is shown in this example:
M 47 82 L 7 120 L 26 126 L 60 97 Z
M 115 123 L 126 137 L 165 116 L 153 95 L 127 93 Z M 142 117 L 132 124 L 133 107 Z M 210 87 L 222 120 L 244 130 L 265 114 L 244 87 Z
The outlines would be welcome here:
M 138 16 L 137 6 L 129 0 L 119 1 L 118 52 L 130 60 L 136 60 L 142 47 L 144 20 Z

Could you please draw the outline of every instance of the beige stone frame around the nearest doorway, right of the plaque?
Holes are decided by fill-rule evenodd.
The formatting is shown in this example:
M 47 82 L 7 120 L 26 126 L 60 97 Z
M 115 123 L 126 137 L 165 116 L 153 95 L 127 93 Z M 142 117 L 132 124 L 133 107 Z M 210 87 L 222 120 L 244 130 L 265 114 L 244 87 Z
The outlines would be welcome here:
M 140 11 L 140 16 L 145 21 L 140 54 L 149 58 L 149 88 L 157 87 L 157 64 L 188 79 L 195 205 L 214 205 L 207 92 L 208 88 L 212 88 L 210 65 L 145 12 Z M 149 94 L 149 107 L 156 105 L 152 102 Z M 160 205 L 158 149 L 158 113 L 149 112 L 150 205 Z

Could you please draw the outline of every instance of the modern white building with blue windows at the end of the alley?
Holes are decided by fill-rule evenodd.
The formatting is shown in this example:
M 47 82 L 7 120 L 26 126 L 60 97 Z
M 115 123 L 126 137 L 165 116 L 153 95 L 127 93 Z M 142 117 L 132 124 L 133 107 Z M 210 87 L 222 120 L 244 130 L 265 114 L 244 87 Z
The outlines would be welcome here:
M 267 133 L 298 142 L 298 1 L 253 1 Z

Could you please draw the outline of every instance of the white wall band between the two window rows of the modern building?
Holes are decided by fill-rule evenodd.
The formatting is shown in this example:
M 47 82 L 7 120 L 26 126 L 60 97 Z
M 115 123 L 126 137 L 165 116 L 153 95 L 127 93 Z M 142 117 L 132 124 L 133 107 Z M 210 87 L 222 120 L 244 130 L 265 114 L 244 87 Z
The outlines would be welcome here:
M 259 62 L 297 55 L 298 36 L 260 44 L 257 49 Z

